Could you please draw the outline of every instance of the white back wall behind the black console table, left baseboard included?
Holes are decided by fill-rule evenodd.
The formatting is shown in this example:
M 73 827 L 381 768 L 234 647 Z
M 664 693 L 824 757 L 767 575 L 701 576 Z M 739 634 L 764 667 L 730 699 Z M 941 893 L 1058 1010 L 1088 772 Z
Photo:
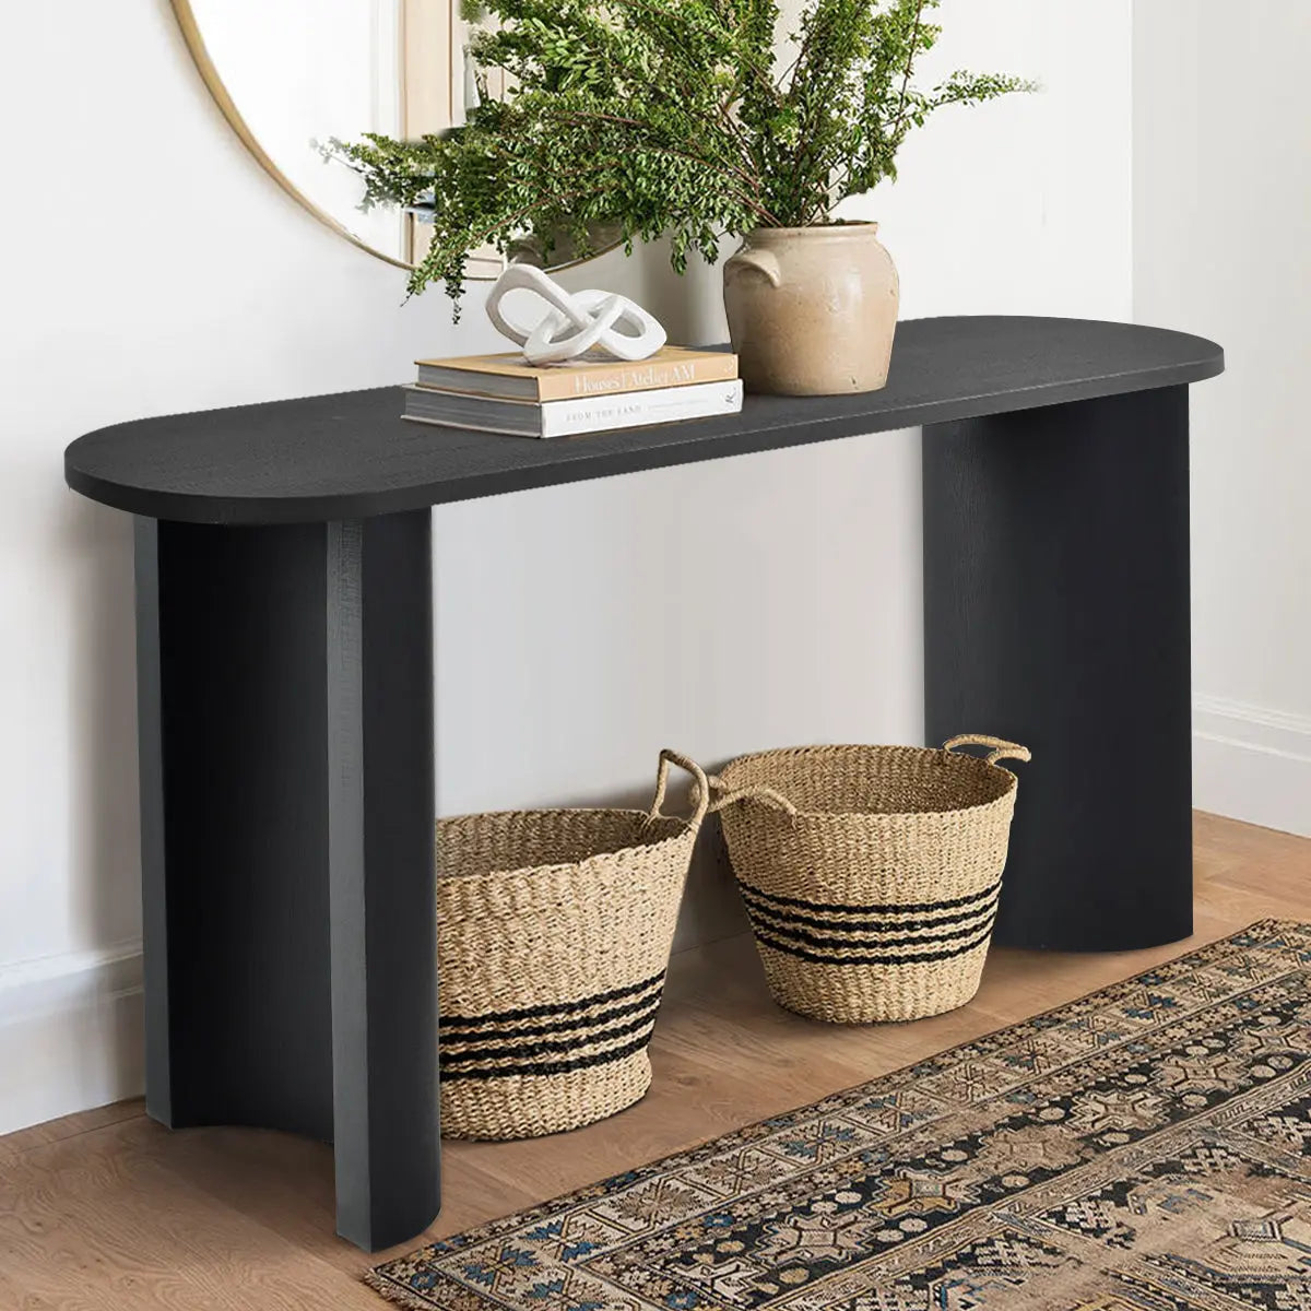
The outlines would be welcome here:
M 943 118 L 884 220 L 906 315 L 1126 317 L 1129 0 L 948 0 L 939 66 L 1047 90 Z M 130 524 L 63 486 L 80 433 L 401 380 L 490 345 L 481 288 L 395 269 L 290 202 L 210 104 L 164 0 L 24 5 L 0 319 L 0 1130 L 139 1087 Z M 679 334 L 713 274 L 599 261 Z M 882 434 L 435 515 L 443 813 L 644 796 L 669 742 L 916 741 L 919 461 Z M 969 725 L 962 725 L 969 728 Z M 707 872 L 684 941 L 722 928 Z

